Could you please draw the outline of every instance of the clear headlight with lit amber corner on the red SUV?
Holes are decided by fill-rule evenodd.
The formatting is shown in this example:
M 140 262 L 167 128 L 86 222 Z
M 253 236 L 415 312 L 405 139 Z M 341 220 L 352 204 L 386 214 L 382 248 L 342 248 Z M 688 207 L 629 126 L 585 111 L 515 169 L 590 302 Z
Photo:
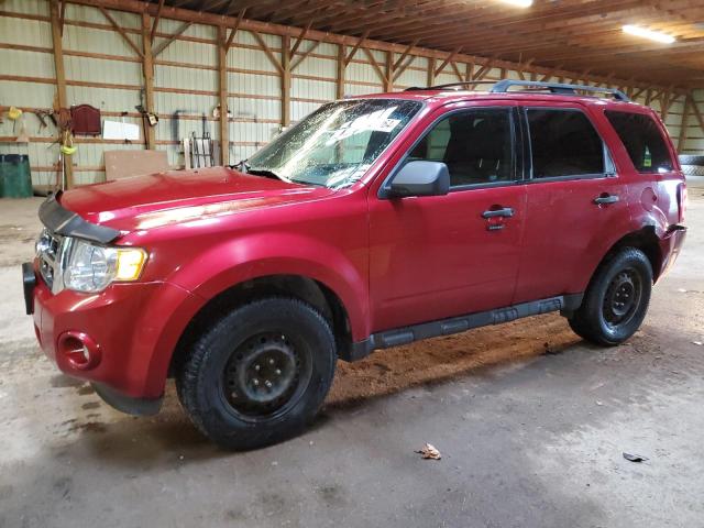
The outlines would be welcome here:
M 146 252 L 139 248 L 106 248 L 74 239 L 64 286 L 76 292 L 101 292 L 113 280 L 140 278 L 145 262 Z

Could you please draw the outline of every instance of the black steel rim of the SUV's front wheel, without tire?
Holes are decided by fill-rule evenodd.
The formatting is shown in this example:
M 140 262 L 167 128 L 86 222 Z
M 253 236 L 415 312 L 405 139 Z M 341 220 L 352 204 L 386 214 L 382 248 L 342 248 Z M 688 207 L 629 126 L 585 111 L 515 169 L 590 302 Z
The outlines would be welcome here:
M 231 354 L 223 372 L 223 396 L 241 417 L 266 420 L 300 399 L 310 377 L 307 346 L 273 331 L 252 336 Z

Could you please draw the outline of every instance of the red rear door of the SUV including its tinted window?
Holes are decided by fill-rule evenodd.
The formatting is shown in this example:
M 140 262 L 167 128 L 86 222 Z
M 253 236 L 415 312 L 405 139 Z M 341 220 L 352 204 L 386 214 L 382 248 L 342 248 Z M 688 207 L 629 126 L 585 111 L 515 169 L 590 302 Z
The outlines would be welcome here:
M 628 221 L 627 189 L 586 107 L 527 103 L 527 213 L 514 302 L 584 292 Z

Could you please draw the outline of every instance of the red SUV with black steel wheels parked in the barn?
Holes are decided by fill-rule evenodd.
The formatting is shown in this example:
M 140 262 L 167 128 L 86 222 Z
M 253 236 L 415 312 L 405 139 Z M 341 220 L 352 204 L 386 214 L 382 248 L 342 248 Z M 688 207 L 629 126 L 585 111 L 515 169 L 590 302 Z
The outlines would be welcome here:
M 617 90 L 458 88 L 331 102 L 238 169 L 50 197 L 23 266 L 43 350 L 127 413 L 173 376 L 246 449 L 300 431 L 338 359 L 549 311 L 628 339 L 685 233 L 662 122 Z

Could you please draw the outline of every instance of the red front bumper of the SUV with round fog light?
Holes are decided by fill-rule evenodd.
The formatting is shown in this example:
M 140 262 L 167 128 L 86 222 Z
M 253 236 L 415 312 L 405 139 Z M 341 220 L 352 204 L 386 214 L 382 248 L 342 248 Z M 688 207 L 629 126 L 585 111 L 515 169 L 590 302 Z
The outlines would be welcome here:
M 34 272 L 28 304 L 44 353 L 64 373 L 91 382 L 119 410 L 158 410 L 168 362 L 185 326 L 173 315 L 194 296 L 169 283 L 113 284 L 99 294 L 65 289 L 54 295 Z M 90 351 L 89 361 L 77 361 L 76 345 L 67 342 L 88 343 L 84 351 Z

